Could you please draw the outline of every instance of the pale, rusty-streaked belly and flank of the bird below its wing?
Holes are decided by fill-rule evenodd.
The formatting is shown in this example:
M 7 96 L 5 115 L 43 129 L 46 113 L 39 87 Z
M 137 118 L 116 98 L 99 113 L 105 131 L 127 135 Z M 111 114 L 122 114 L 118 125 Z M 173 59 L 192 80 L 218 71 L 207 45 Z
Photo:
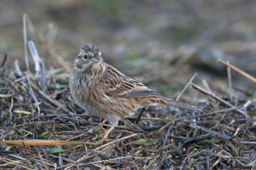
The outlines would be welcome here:
M 84 87 L 81 89 L 80 87 L 72 87 L 70 88 L 70 92 L 75 102 L 86 113 L 90 113 L 96 117 L 106 118 L 110 124 L 117 124 L 118 120 L 134 115 L 134 112 L 138 110 L 138 106 L 131 106 L 129 104 L 129 102 L 131 103 L 130 99 L 106 96 L 97 90 L 97 88 L 90 89 L 90 87 Z M 100 96 L 100 94 L 104 94 L 104 96 Z

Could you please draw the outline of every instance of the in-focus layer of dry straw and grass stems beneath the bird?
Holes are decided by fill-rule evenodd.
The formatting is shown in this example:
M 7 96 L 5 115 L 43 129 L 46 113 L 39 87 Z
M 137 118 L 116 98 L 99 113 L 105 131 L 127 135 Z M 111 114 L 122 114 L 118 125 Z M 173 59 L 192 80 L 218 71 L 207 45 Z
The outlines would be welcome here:
M 26 17 L 26 45 L 25 23 Z M 223 97 L 214 94 L 206 81 L 207 90 L 189 83 L 208 97 L 194 99 L 204 114 L 146 108 L 139 123 L 136 117 L 127 118 L 109 141 L 99 144 L 102 131 L 93 131 L 99 118 L 84 115 L 74 103 L 68 74 L 61 69 L 45 71 L 38 57 L 34 56 L 36 74 L 29 71 L 28 62 L 26 71 L 20 71 L 17 61 L 15 69 L 5 67 L 6 57 L 0 65 L 0 169 L 254 167 L 256 104 L 246 94 Z M 63 60 L 61 64 L 68 67 Z M 232 96 L 232 81 L 227 79 L 225 96 Z

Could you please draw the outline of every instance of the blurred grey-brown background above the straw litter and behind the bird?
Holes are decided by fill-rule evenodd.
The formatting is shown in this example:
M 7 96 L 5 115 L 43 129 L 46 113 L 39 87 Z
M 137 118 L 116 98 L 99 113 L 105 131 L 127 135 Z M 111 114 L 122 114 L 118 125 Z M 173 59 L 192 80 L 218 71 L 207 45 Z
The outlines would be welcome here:
M 193 74 L 227 94 L 227 68 L 256 76 L 256 1 L 253 0 L 23 0 L 0 1 L 0 59 L 19 59 L 26 71 L 22 16 L 48 70 L 70 73 L 84 43 L 95 43 L 104 60 L 151 89 L 175 98 Z M 0 60 L 0 62 L 1 62 Z M 30 68 L 33 60 L 29 53 Z M 251 81 L 232 71 L 236 92 L 255 95 Z M 200 95 L 189 88 L 183 100 Z M 238 94 L 239 95 L 239 94 Z

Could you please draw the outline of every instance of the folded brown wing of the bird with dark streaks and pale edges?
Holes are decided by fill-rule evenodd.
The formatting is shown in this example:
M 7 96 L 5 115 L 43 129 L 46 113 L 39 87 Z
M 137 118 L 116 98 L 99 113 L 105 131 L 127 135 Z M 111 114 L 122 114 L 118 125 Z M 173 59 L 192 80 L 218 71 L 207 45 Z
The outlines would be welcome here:
M 107 65 L 106 71 L 99 81 L 98 88 L 103 89 L 106 95 L 115 97 L 161 96 L 153 90 L 148 89 L 148 87 L 138 80 L 125 76 L 115 69 L 115 67 L 109 65 Z

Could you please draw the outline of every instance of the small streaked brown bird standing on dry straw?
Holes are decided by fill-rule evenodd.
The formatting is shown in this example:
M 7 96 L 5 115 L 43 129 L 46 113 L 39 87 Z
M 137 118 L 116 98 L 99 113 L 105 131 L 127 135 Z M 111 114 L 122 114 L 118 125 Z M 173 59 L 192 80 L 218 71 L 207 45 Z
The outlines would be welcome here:
M 202 112 L 196 106 L 163 97 L 140 81 L 118 71 L 104 62 L 99 47 L 92 43 L 83 45 L 74 60 L 69 86 L 79 107 L 96 117 L 104 118 L 99 129 L 104 129 L 103 125 L 107 121 L 111 124 L 103 140 L 108 139 L 119 120 L 147 106 L 175 106 Z

